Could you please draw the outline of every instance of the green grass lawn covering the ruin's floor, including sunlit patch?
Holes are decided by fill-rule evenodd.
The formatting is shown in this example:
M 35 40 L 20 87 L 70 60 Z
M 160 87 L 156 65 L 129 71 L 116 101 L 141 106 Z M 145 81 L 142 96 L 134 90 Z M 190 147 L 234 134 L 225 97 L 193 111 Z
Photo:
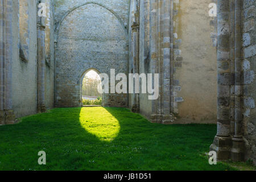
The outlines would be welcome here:
M 216 125 L 160 125 L 124 108 L 53 109 L 0 126 L 0 170 L 234 169 L 209 165 L 215 134 Z

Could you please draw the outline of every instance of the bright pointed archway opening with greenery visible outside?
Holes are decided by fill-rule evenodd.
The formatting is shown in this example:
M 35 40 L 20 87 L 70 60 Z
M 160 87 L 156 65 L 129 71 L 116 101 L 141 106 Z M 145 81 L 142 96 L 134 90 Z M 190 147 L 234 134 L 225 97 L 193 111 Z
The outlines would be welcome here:
M 84 106 L 101 106 L 103 103 L 101 78 L 98 74 L 97 70 L 89 69 L 82 76 L 81 98 Z

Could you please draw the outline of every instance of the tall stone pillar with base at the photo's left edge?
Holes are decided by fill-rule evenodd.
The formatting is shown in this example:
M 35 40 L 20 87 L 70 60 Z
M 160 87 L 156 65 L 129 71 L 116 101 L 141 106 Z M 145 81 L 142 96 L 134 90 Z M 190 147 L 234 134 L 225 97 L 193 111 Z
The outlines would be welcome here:
M 13 2 L 0 0 L 0 125 L 13 124 Z

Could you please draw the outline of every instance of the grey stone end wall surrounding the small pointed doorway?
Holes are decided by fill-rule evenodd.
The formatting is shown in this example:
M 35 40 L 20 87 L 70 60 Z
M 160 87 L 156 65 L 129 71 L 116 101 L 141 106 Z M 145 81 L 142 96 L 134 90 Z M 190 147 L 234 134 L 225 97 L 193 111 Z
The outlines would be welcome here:
M 56 104 L 81 105 L 88 69 L 127 73 L 127 1 L 56 1 Z M 59 20 L 59 22 L 57 22 Z M 105 106 L 127 106 L 126 94 L 104 94 Z

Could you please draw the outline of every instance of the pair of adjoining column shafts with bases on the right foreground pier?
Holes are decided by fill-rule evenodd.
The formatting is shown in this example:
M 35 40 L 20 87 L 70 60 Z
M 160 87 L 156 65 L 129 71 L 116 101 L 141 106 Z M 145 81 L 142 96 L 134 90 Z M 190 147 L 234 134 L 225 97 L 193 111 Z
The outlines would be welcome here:
M 242 1 L 218 0 L 217 9 L 217 134 L 210 151 L 217 152 L 218 160 L 243 160 Z

